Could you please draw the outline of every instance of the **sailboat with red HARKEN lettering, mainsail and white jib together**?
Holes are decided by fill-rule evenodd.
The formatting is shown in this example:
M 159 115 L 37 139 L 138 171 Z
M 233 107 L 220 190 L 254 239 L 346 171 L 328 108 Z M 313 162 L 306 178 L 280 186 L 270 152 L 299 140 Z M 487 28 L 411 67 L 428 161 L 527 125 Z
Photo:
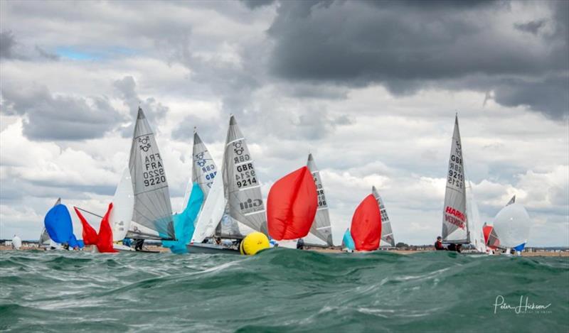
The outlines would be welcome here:
M 472 190 L 472 186 L 470 186 Z M 458 116 L 454 118 L 454 131 L 450 149 L 447 186 L 445 190 L 445 207 L 442 214 L 442 241 L 446 244 L 472 244 L 482 253 L 486 252 L 482 224 L 472 219 L 471 200 L 467 203 L 467 182 L 464 178 L 464 159 Z

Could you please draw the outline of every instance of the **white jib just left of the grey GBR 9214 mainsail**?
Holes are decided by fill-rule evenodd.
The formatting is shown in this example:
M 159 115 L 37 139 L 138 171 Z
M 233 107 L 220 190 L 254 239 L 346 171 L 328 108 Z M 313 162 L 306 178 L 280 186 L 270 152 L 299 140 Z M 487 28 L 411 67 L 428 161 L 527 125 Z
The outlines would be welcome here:
M 223 177 L 216 177 L 209 189 L 209 195 L 203 203 L 196 230 L 193 231 L 192 243 L 201 243 L 203 239 L 213 236 L 225 212 L 225 194 L 223 192 Z

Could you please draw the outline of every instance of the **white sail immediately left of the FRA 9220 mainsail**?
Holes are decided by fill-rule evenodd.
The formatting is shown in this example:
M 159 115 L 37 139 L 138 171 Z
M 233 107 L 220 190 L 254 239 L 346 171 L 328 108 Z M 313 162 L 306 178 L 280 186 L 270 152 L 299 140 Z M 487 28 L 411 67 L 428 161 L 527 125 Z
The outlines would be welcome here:
M 115 196 L 112 197 L 112 209 L 109 223 L 112 228 L 112 241 L 122 241 L 130 227 L 134 209 L 134 192 L 129 168 L 124 168 Z

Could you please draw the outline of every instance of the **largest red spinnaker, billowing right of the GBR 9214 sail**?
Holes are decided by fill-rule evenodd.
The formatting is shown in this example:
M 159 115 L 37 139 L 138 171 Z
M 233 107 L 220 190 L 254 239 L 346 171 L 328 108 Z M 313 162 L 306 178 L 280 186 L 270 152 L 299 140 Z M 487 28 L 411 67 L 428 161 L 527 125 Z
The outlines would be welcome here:
M 269 235 L 277 241 L 306 236 L 317 207 L 316 185 L 309 168 L 285 175 L 272 185 L 267 198 Z

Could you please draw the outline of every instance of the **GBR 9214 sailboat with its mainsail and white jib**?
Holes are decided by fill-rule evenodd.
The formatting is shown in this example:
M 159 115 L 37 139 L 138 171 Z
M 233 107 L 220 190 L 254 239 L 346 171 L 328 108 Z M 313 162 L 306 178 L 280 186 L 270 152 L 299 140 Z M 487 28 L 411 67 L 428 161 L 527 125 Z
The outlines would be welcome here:
M 222 251 L 222 253 L 238 254 L 238 242 L 246 234 L 252 231 L 261 231 L 265 235 L 268 233 L 261 184 L 245 137 L 233 115 L 229 119 L 220 173 L 223 175 L 220 181 L 223 182 L 217 182 L 218 177 L 213 178 L 211 192 L 198 217 L 197 232 L 194 231 L 192 243 L 188 246 L 191 252 Z M 220 192 L 223 192 L 223 199 L 220 197 Z M 222 207 L 223 214 L 220 213 Z M 222 217 L 219 220 L 220 215 Z M 214 228 L 213 234 L 210 234 L 211 226 Z M 199 243 L 210 236 L 235 241 L 228 246 Z

